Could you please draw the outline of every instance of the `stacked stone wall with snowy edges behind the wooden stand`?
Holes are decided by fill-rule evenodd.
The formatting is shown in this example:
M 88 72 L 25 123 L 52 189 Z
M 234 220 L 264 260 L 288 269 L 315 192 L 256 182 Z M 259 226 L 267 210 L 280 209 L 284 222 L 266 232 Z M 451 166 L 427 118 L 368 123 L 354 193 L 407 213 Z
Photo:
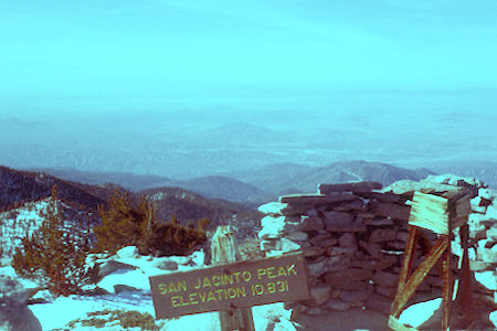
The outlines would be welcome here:
M 307 258 L 313 298 L 293 307 L 307 314 L 350 307 L 389 312 L 408 239 L 413 192 L 440 184 L 465 186 L 474 193 L 469 257 L 482 285 L 474 286 L 475 296 L 495 305 L 497 192 L 474 179 L 438 175 L 384 189 L 376 182 L 320 184 L 318 193 L 285 195 L 279 202 L 262 205 L 258 210 L 266 216 L 258 236 L 266 256 L 302 250 Z M 435 239 L 434 233 L 426 235 Z M 462 252 L 457 239 L 453 246 L 455 254 Z M 435 298 L 441 289 L 442 279 L 433 270 L 414 300 Z

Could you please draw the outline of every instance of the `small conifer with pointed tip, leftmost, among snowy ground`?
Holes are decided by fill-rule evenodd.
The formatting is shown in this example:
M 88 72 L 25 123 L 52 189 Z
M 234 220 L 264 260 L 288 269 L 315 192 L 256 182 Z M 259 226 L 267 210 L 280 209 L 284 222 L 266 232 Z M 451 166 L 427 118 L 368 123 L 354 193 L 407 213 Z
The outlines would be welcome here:
M 92 278 L 85 265 L 89 247 L 82 233 L 64 228 L 56 186 L 43 216 L 40 228 L 22 238 L 12 267 L 19 276 L 41 281 L 55 296 L 80 293 Z

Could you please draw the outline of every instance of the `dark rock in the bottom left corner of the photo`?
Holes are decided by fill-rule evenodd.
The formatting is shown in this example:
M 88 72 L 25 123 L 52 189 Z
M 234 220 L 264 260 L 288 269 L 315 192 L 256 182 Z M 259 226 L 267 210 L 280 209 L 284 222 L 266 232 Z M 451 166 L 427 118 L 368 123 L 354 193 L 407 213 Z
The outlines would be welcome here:
M 38 289 L 25 289 L 12 277 L 0 275 L 0 330 L 41 331 L 40 321 L 28 308 Z

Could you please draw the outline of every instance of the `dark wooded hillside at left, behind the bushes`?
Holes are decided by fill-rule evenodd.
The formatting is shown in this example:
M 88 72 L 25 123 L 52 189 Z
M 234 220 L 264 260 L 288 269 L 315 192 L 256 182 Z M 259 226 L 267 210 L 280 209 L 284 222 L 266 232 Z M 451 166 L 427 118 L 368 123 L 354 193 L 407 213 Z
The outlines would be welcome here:
M 237 182 L 233 180 L 234 182 Z M 228 181 L 231 182 L 231 181 Z M 19 171 L 0 167 L 0 210 L 15 211 L 27 203 L 36 202 L 51 195 L 56 184 L 59 197 L 75 210 L 86 209 L 96 214 L 98 205 L 105 204 L 115 190 L 127 191 L 117 184 L 85 184 L 65 181 L 43 172 Z M 221 190 L 222 191 L 222 190 Z M 157 203 L 157 216 L 169 222 L 175 214 L 180 223 L 199 218 L 210 218 L 209 228 L 219 224 L 235 224 L 252 228 L 258 224 L 258 213 L 248 206 L 223 200 L 210 200 L 180 188 L 157 188 L 130 192 L 131 201 L 138 203 L 141 195 Z

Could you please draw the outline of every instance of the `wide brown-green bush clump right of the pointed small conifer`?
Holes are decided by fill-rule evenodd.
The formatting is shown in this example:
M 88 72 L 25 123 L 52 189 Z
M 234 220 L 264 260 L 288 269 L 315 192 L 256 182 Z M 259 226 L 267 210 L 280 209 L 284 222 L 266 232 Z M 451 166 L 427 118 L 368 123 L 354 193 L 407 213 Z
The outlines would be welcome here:
M 205 225 L 209 220 L 199 220 L 197 226 L 178 224 L 176 216 L 170 223 L 156 218 L 156 207 L 145 196 L 137 207 L 128 193 L 116 190 L 107 207 L 98 207 L 102 225 L 93 228 L 96 250 L 115 254 L 123 247 L 137 246 L 140 254 L 156 256 L 189 255 L 205 242 Z

